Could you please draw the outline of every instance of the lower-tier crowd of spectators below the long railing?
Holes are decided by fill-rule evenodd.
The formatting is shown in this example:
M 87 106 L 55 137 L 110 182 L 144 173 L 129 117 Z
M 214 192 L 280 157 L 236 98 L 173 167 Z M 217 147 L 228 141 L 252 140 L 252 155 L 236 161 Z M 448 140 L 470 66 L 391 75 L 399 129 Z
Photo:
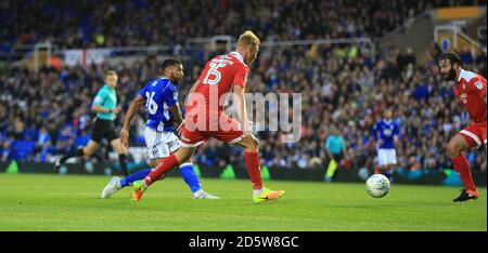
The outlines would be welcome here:
M 348 144 L 342 167 L 374 167 L 375 148 L 371 128 L 386 107 L 401 129 L 399 162 L 412 170 L 450 167 L 446 142 L 463 125 L 468 116 L 453 98 L 451 88 L 440 80 L 433 61 L 423 66 L 413 55 L 391 49 L 374 64 L 360 53 L 343 55 L 321 48 L 317 57 L 310 50 L 280 50 L 259 59 L 249 80 L 249 92 L 299 92 L 303 94 L 301 139 L 281 144 L 280 132 L 259 132 L 261 158 L 268 165 L 313 168 L 324 165 L 325 138 L 339 130 Z M 337 49 L 335 49 L 337 50 Z M 380 55 L 378 55 L 380 56 Z M 466 69 L 486 76 L 486 56 L 473 56 Z M 35 74 L 14 68 L 0 82 L 1 159 L 12 159 L 18 141 L 35 142 L 27 160 L 53 161 L 52 156 L 66 152 L 73 144 L 85 145 L 93 115 L 89 111 L 92 95 L 103 84 L 101 75 L 107 66 L 43 68 Z M 116 66 L 120 75 L 119 101 L 127 108 L 138 89 L 156 72 L 154 57 L 132 66 Z M 197 78 L 201 66 L 187 66 L 180 85 L 180 99 Z M 73 95 L 76 94 L 76 95 Z M 143 114 L 141 114 L 143 115 Z M 123 117 L 118 117 L 119 122 Z M 142 144 L 143 117 L 133 124 L 134 144 Z M 21 142 L 23 143 L 23 142 Z M 240 159 L 242 154 L 220 143 L 210 142 L 197 151 L 198 162 L 222 164 Z M 103 155 L 105 154 L 105 155 Z M 106 156 L 106 150 L 102 151 Z M 51 157 L 51 158 L 50 158 Z M 480 151 L 468 156 L 474 168 L 486 168 Z M 484 164 L 484 165 L 483 165 Z

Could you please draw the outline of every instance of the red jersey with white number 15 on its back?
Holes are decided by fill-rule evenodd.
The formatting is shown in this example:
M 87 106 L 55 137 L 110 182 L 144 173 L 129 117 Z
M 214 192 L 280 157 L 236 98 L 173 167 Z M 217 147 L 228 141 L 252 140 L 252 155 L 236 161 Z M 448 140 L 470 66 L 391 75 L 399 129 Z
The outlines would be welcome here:
M 195 115 L 203 109 L 210 114 L 222 111 L 232 85 L 244 88 L 248 75 L 249 67 L 244 64 L 242 55 L 237 52 L 208 61 L 198 78 L 200 84 L 194 91 L 195 94 L 187 105 L 187 114 Z M 202 97 L 205 98 L 205 103 L 201 101 Z

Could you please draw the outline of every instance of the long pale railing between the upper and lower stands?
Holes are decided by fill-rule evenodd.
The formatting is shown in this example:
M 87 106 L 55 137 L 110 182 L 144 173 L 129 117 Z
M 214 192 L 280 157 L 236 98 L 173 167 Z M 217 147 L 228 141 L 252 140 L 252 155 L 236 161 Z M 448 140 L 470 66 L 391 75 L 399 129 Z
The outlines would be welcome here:
M 150 45 L 150 46 L 117 46 L 117 48 L 92 48 L 92 49 L 68 49 L 60 50 L 55 44 L 37 43 L 30 45 L 13 45 L 9 52 L 3 54 L 3 59 L 11 64 L 18 64 L 34 62 L 33 69 L 38 69 L 44 64 L 44 61 L 39 59 L 40 52 L 47 52 L 46 64 L 50 65 L 51 55 L 61 55 L 64 62 L 68 65 L 74 63 L 91 64 L 101 63 L 104 58 L 111 57 L 142 57 L 149 54 L 153 55 L 174 55 L 174 56 L 191 56 L 194 53 L 204 53 L 203 57 L 208 57 L 208 54 L 216 51 L 219 41 L 226 42 L 226 51 L 231 51 L 235 45 L 235 39 L 230 36 L 221 35 L 207 38 L 192 38 L 187 40 L 184 44 L 175 45 Z M 292 40 L 292 41 L 264 41 L 261 43 L 261 52 L 271 52 L 279 49 L 294 49 L 295 46 L 305 46 L 309 49 L 312 45 L 337 45 L 337 44 L 357 44 L 362 52 L 371 55 L 374 61 L 376 44 L 370 38 L 344 38 L 344 39 L 316 39 L 316 40 Z M 42 58 L 44 59 L 44 58 Z

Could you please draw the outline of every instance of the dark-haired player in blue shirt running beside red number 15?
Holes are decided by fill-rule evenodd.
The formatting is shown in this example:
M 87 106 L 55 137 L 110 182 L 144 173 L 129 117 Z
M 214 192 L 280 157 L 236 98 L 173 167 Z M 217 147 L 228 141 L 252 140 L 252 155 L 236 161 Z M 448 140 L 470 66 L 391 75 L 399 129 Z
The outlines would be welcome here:
M 124 120 L 124 126 L 120 131 L 120 141 L 127 147 L 130 122 L 139 106 L 145 105 L 147 109 L 147 121 L 144 138 L 152 168 L 157 167 L 163 158 L 178 150 L 180 139 L 175 134 L 175 123 L 181 125 L 183 121 L 178 104 L 178 91 L 174 84 L 183 78 L 183 65 L 177 59 L 166 59 L 163 63 L 162 69 L 163 77 L 147 82 L 130 103 Z M 190 186 L 194 199 L 218 199 L 218 197 L 207 194 L 202 189 L 198 177 L 193 171 L 191 160 L 180 164 L 179 168 L 181 176 Z M 125 178 L 114 176 L 103 189 L 102 198 L 110 198 L 117 190 L 131 185 L 132 182 L 144 178 L 150 172 L 151 169 L 146 169 Z

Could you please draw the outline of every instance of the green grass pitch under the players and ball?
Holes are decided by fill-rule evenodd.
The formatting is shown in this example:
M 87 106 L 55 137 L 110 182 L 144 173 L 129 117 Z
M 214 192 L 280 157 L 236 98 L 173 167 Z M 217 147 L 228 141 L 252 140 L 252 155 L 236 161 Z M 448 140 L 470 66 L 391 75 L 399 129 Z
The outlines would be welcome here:
M 166 178 L 129 201 L 129 189 L 100 199 L 107 176 L 0 174 L 0 230 L 487 230 L 486 188 L 453 203 L 458 187 L 393 185 L 383 199 L 363 184 L 274 181 L 286 194 L 254 204 L 248 181 L 203 178 L 220 200 L 193 200 L 181 178 Z

